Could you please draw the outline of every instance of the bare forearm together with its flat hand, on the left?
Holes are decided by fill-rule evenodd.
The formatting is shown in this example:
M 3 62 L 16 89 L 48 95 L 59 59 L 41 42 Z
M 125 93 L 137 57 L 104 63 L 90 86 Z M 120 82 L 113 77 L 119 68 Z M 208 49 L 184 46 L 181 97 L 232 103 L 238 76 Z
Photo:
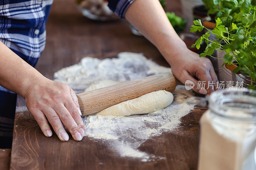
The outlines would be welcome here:
M 45 136 L 52 136 L 49 121 L 62 141 L 69 139 L 62 123 L 75 140 L 80 141 L 84 137 L 85 127 L 76 93 L 64 83 L 45 78 L 2 42 L 0 85 L 25 99 L 28 111 L 34 116 Z

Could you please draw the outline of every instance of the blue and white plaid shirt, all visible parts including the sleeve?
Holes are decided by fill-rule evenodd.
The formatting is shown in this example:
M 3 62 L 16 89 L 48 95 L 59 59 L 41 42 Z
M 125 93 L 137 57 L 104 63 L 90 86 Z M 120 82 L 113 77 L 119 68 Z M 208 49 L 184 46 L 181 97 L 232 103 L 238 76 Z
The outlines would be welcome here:
M 121 18 L 134 0 L 108 0 L 109 8 Z M 45 47 L 46 21 L 53 0 L 1 0 L 0 41 L 35 67 Z M 1 49 L 0 49 L 1 50 Z M 12 136 L 17 95 L 0 86 L 1 136 Z

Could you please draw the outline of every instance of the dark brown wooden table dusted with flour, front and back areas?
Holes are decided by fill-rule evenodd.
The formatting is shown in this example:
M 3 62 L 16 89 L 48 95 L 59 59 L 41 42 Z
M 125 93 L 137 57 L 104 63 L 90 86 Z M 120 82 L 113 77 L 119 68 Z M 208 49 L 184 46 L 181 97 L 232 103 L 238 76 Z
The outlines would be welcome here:
M 166 11 L 180 14 L 180 2 L 169 0 Z M 135 36 L 125 20 L 95 22 L 84 18 L 71 0 L 55 0 L 47 24 L 45 50 L 36 69 L 48 78 L 85 56 L 106 58 L 123 51 L 142 52 L 156 63 L 168 66 L 158 50 L 145 38 Z M 182 117 L 180 132 L 166 132 L 146 140 L 140 151 L 165 157 L 141 162 L 119 157 L 104 143 L 84 137 L 61 142 L 56 134 L 43 135 L 19 96 L 14 122 L 11 169 L 196 169 L 199 119 L 204 109 Z M 154 142 L 153 142 L 154 141 Z M 157 141 L 157 142 L 155 142 Z

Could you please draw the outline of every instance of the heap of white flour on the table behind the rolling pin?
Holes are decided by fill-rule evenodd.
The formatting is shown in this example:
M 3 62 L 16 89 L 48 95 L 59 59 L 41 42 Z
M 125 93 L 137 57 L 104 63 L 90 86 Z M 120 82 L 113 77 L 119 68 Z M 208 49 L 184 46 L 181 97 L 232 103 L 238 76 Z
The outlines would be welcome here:
M 142 54 L 123 52 L 118 58 L 84 57 L 80 63 L 54 73 L 56 81 L 68 84 L 75 92 L 83 92 L 89 85 L 101 80 L 130 81 L 162 72 L 170 68 L 159 66 Z

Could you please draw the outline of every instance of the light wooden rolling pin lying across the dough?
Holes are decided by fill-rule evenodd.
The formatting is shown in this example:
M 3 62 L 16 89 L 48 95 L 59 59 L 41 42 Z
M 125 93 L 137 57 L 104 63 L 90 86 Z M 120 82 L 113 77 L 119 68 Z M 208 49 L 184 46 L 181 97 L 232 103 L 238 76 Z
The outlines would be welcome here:
M 173 92 L 181 84 L 171 73 L 162 73 L 146 78 L 77 94 L 82 116 L 98 113 L 123 101 L 138 98 L 158 90 Z

